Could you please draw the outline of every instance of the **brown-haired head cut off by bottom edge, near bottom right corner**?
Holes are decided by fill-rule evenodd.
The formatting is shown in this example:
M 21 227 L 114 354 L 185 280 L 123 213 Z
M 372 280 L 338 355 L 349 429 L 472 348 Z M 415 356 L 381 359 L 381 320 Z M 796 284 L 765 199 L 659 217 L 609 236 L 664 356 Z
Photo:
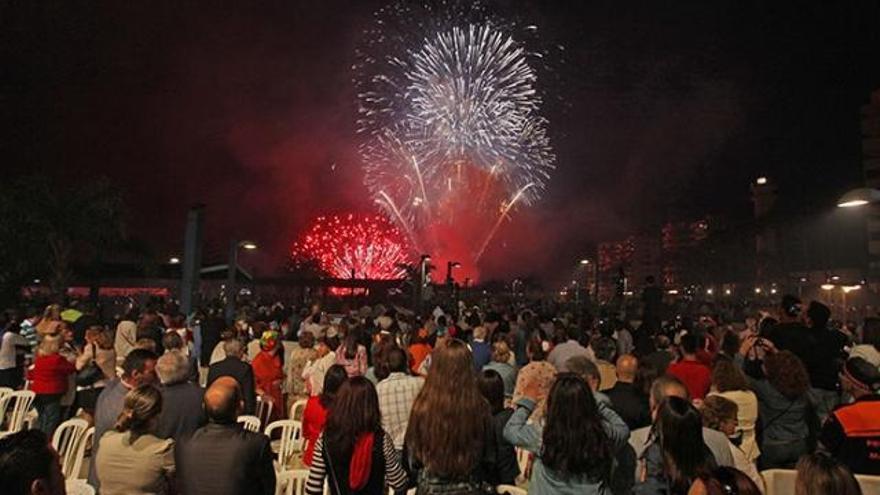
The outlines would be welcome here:
M 807 454 L 797 463 L 794 481 L 795 495 L 861 495 L 862 489 L 852 471 L 828 454 Z

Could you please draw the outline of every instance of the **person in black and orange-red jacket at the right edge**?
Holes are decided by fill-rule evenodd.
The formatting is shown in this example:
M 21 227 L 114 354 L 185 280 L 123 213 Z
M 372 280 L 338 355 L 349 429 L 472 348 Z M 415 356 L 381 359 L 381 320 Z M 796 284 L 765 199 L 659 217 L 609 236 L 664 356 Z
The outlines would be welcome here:
M 880 371 L 862 358 L 849 358 L 841 384 L 854 402 L 834 410 L 819 440 L 854 473 L 880 475 Z

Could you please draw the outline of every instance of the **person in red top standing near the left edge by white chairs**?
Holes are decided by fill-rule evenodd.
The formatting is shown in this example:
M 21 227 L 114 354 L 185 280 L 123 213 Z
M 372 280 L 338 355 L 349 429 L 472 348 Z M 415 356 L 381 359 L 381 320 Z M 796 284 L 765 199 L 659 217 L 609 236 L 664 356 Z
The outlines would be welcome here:
M 46 335 L 37 348 L 34 367 L 28 373 L 31 390 L 36 394 L 37 428 L 51 435 L 61 423 L 61 397 L 67 392 L 68 377 L 76 368 L 59 354 L 61 337 Z

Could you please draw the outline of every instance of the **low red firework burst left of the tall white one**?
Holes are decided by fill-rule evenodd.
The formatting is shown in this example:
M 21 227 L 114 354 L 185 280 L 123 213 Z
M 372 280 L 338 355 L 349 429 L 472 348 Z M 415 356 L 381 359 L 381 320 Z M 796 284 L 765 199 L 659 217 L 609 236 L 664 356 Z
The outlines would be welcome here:
M 409 261 L 404 236 L 382 215 L 321 216 L 293 244 L 295 267 L 315 266 L 336 278 L 402 278 Z

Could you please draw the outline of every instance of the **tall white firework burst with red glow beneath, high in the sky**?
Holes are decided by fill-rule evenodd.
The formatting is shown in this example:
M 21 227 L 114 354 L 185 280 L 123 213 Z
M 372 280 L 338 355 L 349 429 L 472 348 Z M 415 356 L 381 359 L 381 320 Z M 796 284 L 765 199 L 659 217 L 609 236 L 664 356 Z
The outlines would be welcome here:
M 476 262 L 507 215 L 539 198 L 555 156 L 540 54 L 456 5 L 377 14 L 356 66 L 360 152 L 373 199 L 416 249 Z M 466 241 L 443 253 L 438 231 Z

